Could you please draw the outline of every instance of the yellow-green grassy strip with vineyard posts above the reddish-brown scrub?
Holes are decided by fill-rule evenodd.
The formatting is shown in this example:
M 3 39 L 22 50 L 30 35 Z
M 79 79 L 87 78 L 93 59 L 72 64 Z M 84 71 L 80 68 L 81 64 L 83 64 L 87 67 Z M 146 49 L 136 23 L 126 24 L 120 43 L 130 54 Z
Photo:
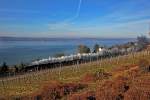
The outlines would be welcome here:
M 139 53 L 129 54 L 127 56 L 120 56 L 82 64 L 79 67 L 68 66 L 64 68 L 49 69 L 19 76 L 17 78 L 4 79 L 3 82 L 0 81 L 0 96 L 21 96 L 30 94 L 38 91 L 43 85 L 51 80 L 58 80 L 62 83 L 80 82 L 81 78 L 86 73 L 95 73 L 101 68 L 104 68 L 106 72 L 112 72 L 112 70 L 118 66 L 137 64 L 138 60 L 141 58 L 150 59 L 150 52 L 142 51 Z M 115 75 L 117 74 L 115 73 Z M 113 77 L 115 76 L 113 75 Z M 86 88 L 85 91 L 95 90 L 97 87 L 96 85 L 97 82 L 90 83 L 89 87 Z

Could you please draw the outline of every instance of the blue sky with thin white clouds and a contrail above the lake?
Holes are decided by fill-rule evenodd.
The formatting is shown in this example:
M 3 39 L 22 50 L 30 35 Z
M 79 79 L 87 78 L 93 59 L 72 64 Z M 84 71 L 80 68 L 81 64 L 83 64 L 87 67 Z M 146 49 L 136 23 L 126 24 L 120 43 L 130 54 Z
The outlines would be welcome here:
M 0 0 L 0 36 L 147 35 L 149 0 Z

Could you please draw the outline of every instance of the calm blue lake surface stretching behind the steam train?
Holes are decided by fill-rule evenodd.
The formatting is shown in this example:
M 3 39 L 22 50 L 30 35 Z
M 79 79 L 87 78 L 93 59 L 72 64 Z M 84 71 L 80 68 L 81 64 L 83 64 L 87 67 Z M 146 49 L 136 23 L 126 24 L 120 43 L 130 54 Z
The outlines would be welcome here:
M 111 46 L 123 44 L 135 39 L 50 39 L 49 41 L 9 41 L 0 40 L 0 64 L 4 61 L 9 65 L 20 62 L 30 63 L 35 59 L 48 58 L 57 53 L 66 55 L 77 53 L 79 44 L 91 49 L 94 44 Z

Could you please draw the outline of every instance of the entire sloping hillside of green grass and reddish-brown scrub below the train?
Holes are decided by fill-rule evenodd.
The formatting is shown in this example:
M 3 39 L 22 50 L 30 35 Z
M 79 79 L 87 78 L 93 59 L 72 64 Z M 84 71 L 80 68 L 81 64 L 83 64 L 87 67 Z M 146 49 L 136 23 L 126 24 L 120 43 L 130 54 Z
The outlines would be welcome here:
M 150 59 L 150 51 L 3 78 L 0 99 L 29 100 L 26 97 L 33 99 L 34 96 L 51 100 L 54 95 L 50 96 L 52 91 L 49 90 L 55 87 L 57 91 L 59 87 L 57 97 L 62 100 L 149 100 L 150 74 L 138 71 L 138 61 L 142 58 Z

